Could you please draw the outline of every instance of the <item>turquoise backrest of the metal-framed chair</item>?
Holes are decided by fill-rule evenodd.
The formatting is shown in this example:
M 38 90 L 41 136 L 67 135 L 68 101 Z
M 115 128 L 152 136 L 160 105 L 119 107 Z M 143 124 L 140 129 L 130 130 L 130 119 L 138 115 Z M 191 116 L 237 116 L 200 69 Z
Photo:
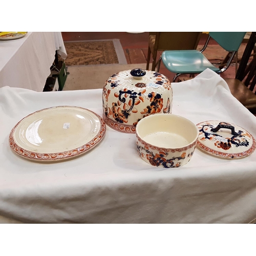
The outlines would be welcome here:
M 209 32 L 210 37 L 228 52 L 238 51 L 246 32 Z

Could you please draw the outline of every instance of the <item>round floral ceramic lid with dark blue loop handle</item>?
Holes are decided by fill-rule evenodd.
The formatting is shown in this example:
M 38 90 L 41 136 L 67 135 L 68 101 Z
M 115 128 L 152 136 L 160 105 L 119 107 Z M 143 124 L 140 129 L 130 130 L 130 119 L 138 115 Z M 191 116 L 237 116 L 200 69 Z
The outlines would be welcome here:
M 209 154 L 233 159 L 249 156 L 255 150 L 255 139 L 236 124 L 211 120 L 198 123 L 197 127 L 197 146 Z

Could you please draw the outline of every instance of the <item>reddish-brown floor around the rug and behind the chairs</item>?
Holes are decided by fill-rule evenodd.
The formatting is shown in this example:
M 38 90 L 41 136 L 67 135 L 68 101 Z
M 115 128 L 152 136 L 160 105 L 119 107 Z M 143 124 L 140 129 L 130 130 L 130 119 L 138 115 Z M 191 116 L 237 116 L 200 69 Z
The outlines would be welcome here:
M 62 32 L 62 37 L 64 41 L 119 39 L 128 64 L 146 63 L 148 32 Z M 207 37 L 208 35 L 203 33 L 199 45 L 203 46 Z M 209 45 L 217 45 L 217 43 L 214 40 L 210 40 Z M 232 65 L 221 76 L 223 78 L 234 78 L 236 72 L 234 66 Z M 163 65 L 160 66 L 159 72 L 167 76 L 171 81 L 175 75 L 169 72 Z

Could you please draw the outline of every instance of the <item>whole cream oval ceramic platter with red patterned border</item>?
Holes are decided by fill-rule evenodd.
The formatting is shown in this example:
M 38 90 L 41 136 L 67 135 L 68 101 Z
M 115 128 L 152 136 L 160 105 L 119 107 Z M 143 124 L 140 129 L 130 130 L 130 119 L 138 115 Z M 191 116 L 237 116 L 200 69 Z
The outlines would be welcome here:
M 58 161 L 84 154 L 105 135 L 106 125 L 96 113 L 77 106 L 36 111 L 12 129 L 9 144 L 21 157 Z

